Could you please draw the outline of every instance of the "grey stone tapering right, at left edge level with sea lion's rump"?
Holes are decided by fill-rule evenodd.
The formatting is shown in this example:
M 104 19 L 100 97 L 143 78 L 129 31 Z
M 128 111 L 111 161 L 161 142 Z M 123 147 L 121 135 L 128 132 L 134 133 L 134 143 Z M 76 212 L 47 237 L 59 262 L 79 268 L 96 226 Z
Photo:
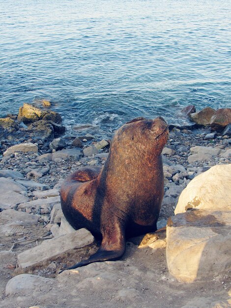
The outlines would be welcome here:
M 9 209 L 12 207 L 16 207 L 18 204 L 22 202 L 27 202 L 29 200 L 28 197 L 22 195 L 21 193 L 5 190 L 0 188 L 0 208 L 1 209 Z

